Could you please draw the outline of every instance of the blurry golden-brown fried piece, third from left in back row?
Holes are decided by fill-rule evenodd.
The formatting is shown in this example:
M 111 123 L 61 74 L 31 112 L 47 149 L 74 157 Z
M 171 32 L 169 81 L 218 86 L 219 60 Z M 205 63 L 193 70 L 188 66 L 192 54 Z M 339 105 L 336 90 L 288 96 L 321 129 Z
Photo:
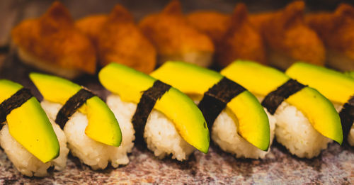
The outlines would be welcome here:
M 145 17 L 139 27 L 155 45 L 159 63 L 182 60 L 206 67 L 212 62 L 212 40 L 188 23 L 179 1 L 171 1 L 161 13 Z

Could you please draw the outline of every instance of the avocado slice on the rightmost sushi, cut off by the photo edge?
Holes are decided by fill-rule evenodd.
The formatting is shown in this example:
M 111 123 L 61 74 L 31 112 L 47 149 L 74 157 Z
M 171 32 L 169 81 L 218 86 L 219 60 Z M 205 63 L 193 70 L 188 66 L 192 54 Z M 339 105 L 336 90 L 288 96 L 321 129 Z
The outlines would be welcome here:
M 346 103 L 354 95 L 354 79 L 332 69 L 297 62 L 285 74 L 302 84 L 312 86 L 334 102 Z

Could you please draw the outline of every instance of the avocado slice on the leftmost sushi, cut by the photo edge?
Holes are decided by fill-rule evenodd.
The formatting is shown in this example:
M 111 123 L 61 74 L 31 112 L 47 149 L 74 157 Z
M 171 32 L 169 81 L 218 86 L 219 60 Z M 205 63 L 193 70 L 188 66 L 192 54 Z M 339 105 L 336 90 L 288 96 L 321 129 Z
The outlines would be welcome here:
M 0 103 L 22 88 L 20 84 L 1 79 Z M 59 156 L 57 135 L 35 97 L 13 109 L 6 120 L 11 136 L 40 161 L 49 162 Z

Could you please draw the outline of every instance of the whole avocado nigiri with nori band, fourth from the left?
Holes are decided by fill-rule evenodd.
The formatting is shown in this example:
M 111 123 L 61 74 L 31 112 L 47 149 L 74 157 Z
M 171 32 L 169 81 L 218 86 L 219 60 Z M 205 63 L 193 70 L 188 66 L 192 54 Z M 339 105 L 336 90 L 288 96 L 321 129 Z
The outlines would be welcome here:
M 166 62 L 152 77 L 192 97 L 202 111 L 212 140 L 236 157 L 263 158 L 273 140 L 275 118 L 243 86 L 210 69 Z

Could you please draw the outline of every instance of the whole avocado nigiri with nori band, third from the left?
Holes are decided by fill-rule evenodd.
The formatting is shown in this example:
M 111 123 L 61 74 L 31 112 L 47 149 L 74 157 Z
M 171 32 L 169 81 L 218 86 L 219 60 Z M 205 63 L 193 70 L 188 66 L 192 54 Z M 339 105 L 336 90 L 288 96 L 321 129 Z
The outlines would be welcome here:
M 135 141 L 156 157 L 185 160 L 196 149 L 207 153 L 209 130 L 191 99 L 168 84 L 135 69 L 110 63 L 98 73 L 112 92 L 107 104 L 124 124 L 135 128 Z

